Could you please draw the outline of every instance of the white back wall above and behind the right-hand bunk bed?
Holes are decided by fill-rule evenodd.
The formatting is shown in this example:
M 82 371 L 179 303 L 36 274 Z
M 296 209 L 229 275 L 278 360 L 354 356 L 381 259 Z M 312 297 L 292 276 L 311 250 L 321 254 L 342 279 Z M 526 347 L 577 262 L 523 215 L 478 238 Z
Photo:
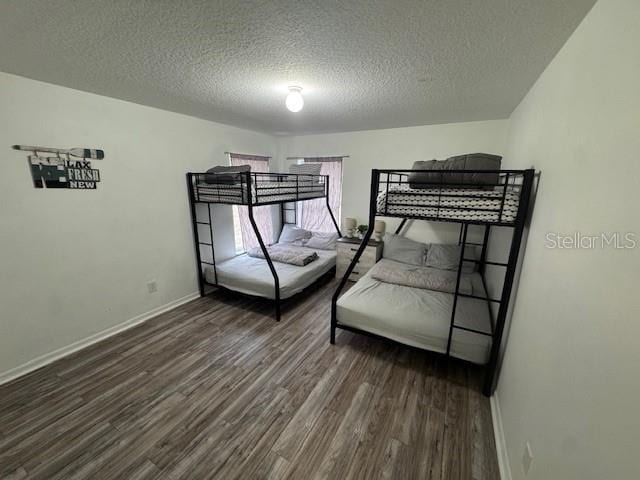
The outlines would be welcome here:
M 342 218 L 368 223 L 371 169 L 411 168 L 416 160 L 486 152 L 501 155 L 506 149 L 507 120 L 426 125 L 421 127 L 284 137 L 279 140 L 281 160 L 288 156 L 349 155 L 343 162 Z M 284 165 L 284 163 L 282 163 Z M 387 220 L 387 231 L 399 221 Z M 407 235 L 420 241 L 457 240 L 453 224 L 415 222 Z

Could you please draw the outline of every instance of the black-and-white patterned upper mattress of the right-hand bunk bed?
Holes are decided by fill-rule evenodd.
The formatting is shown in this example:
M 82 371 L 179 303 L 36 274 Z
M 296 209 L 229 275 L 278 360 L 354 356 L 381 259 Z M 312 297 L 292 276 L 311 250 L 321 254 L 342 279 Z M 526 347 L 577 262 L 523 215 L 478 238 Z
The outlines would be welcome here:
M 415 189 L 396 185 L 378 195 L 377 209 L 380 215 L 511 223 L 516 219 L 519 203 L 518 186 L 509 187 L 505 195 L 501 187 Z

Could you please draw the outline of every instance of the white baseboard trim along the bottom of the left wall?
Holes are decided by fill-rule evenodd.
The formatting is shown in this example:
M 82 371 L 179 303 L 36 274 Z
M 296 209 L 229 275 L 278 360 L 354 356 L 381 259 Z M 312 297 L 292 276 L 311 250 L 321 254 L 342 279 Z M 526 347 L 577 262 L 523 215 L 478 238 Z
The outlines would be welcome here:
M 59 360 L 63 357 L 71 355 L 72 353 L 77 352 L 78 350 L 82 350 L 83 348 L 86 348 L 89 345 L 93 345 L 94 343 L 97 343 L 101 340 L 105 340 L 109 337 L 112 337 L 117 333 L 120 333 L 124 330 L 128 330 L 132 327 L 135 327 L 136 325 L 146 322 L 147 320 L 150 320 L 153 317 L 157 317 L 161 313 L 164 313 L 173 308 L 179 307 L 180 305 L 190 302 L 191 300 L 195 300 L 199 296 L 200 296 L 199 292 L 190 293 L 189 295 L 185 295 L 182 298 L 169 302 L 160 307 L 156 307 L 153 310 L 149 310 L 148 312 L 142 313 L 140 315 L 136 315 L 135 317 L 130 318 L 129 320 L 125 320 L 124 322 L 119 323 L 118 325 L 109 327 L 106 330 L 102 330 L 101 332 L 95 333 L 87 338 L 83 338 L 82 340 L 73 342 L 72 344 L 59 348 L 57 350 L 54 350 L 53 352 L 49 352 L 37 358 L 34 358 L 33 360 L 29 360 L 28 362 L 23 363 L 22 365 L 19 365 L 10 370 L 7 370 L 6 372 L 2 372 L 0 373 L 0 385 L 2 385 L 3 383 L 10 382 L 11 380 L 14 380 L 23 375 L 26 375 L 27 373 L 37 370 L 38 368 L 44 367 L 45 365 L 55 362 L 56 360 Z

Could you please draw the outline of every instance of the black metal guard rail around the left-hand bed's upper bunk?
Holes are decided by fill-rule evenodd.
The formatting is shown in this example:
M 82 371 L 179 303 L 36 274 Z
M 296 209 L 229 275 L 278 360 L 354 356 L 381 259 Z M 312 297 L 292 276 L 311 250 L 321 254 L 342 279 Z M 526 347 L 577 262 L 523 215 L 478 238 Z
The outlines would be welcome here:
M 329 176 L 293 173 L 188 173 L 193 201 L 273 205 L 328 197 Z

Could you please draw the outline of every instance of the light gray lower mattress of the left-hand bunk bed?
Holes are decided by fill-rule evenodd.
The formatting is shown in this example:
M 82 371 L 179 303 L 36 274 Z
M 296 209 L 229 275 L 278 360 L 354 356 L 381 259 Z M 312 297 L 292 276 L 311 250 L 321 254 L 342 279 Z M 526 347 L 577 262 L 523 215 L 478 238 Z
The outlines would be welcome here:
M 273 262 L 278 273 L 282 299 L 301 292 L 336 265 L 335 250 L 305 250 L 316 252 L 318 259 L 304 267 Z M 216 271 L 220 286 L 249 295 L 275 298 L 273 275 L 267 261 L 262 258 L 250 257 L 245 253 L 217 263 Z M 204 275 L 207 282 L 216 283 L 213 267 L 207 266 Z

